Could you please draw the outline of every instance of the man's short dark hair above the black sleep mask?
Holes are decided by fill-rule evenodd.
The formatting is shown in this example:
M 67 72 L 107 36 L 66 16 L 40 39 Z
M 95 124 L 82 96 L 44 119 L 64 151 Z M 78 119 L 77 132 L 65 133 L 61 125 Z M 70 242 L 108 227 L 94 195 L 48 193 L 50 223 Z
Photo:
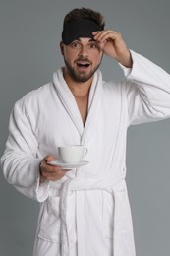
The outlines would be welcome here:
M 104 30 L 104 17 L 99 12 L 93 11 L 92 9 L 82 7 L 80 9 L 76 8 L 70 11 L 64 18 L 63 29 L 65 29 L 65 27 L 70 24 L 70 22 L 75 20 L 92 21 L 96 23 L 101 28 L 101 30 Z

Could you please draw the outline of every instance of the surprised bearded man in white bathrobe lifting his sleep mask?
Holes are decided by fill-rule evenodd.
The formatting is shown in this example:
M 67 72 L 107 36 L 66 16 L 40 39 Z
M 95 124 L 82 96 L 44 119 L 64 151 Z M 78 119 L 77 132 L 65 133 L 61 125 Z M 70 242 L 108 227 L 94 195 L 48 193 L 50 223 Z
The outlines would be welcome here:
M 126 176 L 131 124 L 170 116 L 170 76 L 129 50 L 101 14 L 74 9 L 64 20 L 65 67 L 14 107 L 1 159 L 4 175 L 41 203 L 34 256 L 135 256 Z M 103 54 L 125 73 L 102 81 Z M 61 145 L 85 145 L 89 163 L 69 171 Z

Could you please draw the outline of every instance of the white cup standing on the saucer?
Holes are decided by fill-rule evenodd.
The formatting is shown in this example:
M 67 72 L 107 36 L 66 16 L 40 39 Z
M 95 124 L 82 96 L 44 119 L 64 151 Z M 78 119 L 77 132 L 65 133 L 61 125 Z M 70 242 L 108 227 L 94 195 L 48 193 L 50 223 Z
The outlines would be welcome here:
M 84 145 L 63 146 L 58 148 L 60 159 L 65 163 L 79 163 L 87 154 Z

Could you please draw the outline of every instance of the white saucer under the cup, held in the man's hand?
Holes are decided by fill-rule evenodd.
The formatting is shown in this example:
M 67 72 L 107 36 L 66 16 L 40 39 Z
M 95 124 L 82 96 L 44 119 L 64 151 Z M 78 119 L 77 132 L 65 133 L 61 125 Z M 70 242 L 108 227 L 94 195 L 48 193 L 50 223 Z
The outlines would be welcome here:
M 63 169 L 76 169 L 76 168 L 79 168 L 81 166 L 88 164 L 89 161 L 83 160 L 78 163 L 69 163 L 69 162 L 65 163 L 65 162 L 62 162 L 61 160 L 52 160 L 52 161 L 48 161 L 47 163 L 50 165 L 59 166 Z

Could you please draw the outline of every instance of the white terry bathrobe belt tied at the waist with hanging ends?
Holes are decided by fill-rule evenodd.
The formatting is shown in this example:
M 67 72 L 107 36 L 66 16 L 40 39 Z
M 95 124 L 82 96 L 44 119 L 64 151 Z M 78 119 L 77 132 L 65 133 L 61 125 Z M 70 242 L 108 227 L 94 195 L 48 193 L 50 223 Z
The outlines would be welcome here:
M 68 224 L 67 224 L 67 196 L 70 191 L 81 191 L 81 190 L 106 190 L 109 193 L 112 193 L 114 198 L 114 228 L 113 228 L 113 251 L 114 256 L 122 256 L 119 246 L 119 193 L 126 192 L 126 182 L 125 182 L 125 174 L 121 172 L 117 175 L 112 175 L 106 178 L 101 179 L 83 179 L 80 177 L 76 177 L 73 179 L 66 180 L 62 185 L 53 183 L 51 184 L 52 188 L 61 189 L 60 195 L 60 216 L 61 216 L 61 255 L 68 256 L 69 248 L 70 248 L 70 235 L 68 232 Z

